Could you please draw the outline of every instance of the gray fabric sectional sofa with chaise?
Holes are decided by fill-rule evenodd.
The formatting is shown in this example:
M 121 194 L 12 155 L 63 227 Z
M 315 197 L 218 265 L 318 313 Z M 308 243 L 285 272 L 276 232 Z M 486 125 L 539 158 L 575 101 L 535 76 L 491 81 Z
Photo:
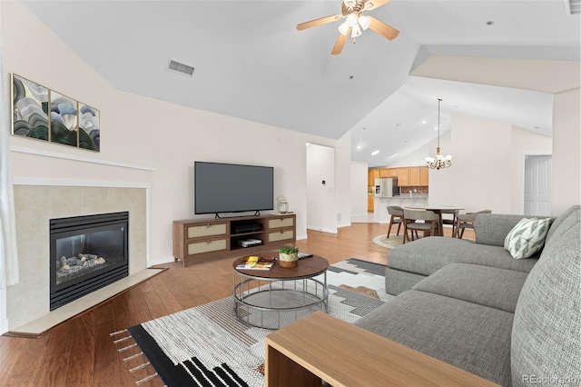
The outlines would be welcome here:
M 388 293 L 357 325 L 500 385 L 581 385 L 581 213 L 536 256 L 504 238 L 523 217 L 478 214 L 476 243 L 428 237 L 389 251 Z

